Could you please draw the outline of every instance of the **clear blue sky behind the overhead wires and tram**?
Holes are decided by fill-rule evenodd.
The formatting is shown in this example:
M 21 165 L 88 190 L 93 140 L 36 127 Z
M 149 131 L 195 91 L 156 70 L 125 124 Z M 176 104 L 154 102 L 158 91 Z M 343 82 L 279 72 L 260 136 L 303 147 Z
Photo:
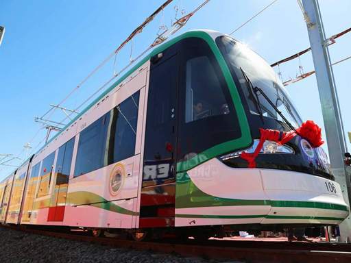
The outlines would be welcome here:
M 50 103 L 60 102 L 70 90 L 121 43 L 132 30 L 165 0 L 135 1 L 3 1 L 0 25 L 6 27 L 0 46 L 0 153 L 18 155 L 26 142 L 36 147 L 45 137 L 34 116 L 43 115 Z M 151 44 L 164 21 L 174 21 L 174 6 L 190 12 L 201 0 L 175 0 L 139 34 L 133 42 L 133 56 Z M 211 0 L 178 32 L 208 28 L 232 32 L 271 0 Z M 351 1 L 319 0 L 326 35 L 337 34 L 351 26 Z M 269 63 L 309 47 L 306 25 L 295 0 L 278 0 L 233 35 L 245 42 Z M 351 34 L 330 47 L 332 61 L 351 55 Z M 128 62 L 130 46 L 117 56 L 117 68 Z M 113 61 L 112 61 L 113 62 Z M 64 106 L 76 108 L 113 73 L 108 63 L 82 86 Z M 313 70 L 311 53 L 301 57 L 304 71 Z M 280 66 L 283 79 L 295 77 L 298 60 Z M 343 123 L 351 131 L 349 79 L 351 60 L 334 67 Z M 287 87 L 302 118 L 324 128 L 315 76 Z M 64 115 L 56 112 L 56 120 Z M 348 143 L 348 148 L 351 145 Z M 38 148 L 37 148 L 38 149 Z M 21 153 L 20 158 L 24 158 Z M 10 164 L 19 164 L 19 161 Z M 0 166 L 0 179 L 12 171 Z

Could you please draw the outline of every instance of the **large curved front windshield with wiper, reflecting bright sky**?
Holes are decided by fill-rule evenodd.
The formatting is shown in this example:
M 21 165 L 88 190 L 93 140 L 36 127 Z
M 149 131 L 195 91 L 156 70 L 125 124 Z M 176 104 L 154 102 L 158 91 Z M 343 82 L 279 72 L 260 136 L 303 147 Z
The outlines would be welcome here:
M 254 87 L 261 88 L 265 92 L 269 100 L 276 105 L 276 108 L 282 112 L 294 127 L 301 125 L 301 118 L 293 107 L 291 99 L 282 82 L 280 82 L 278 75 L 276 75 L 271 66 L 260 55 L 228 36 L 217 38 L 217 45 L 226 59 L 228 66 L 230 66 L 232 72 L 234 72 L 239 80 L 251 114 L 263 114 L 263 116 L 284 122 L 261 93 L 252 94 L 252 90 L 250 90 L 243 72 L 245 72 Z

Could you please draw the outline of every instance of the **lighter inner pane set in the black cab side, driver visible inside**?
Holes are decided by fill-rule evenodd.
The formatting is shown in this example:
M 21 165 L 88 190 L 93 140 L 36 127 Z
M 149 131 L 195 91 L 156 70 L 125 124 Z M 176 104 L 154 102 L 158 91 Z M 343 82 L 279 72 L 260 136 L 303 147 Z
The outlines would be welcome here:
M 185 122 L 229 114 L 221 83 L 206 55 L 186 62 Z

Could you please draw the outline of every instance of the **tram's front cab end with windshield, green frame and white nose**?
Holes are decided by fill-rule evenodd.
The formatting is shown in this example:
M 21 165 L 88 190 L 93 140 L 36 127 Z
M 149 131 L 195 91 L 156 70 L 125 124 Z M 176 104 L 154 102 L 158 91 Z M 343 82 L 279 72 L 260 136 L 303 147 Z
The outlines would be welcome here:
M 218 83 L 195 84 L 196 71 L 186 71 L 191 79 L 186 82 L 185 123 L 193 126 L 180 128 L 178 148 L 186 149 L 182 132 L 203 138 L 206 147 L 186 151 L 178 160 L 175 226 L 339 225 L 349 214 L 341 187 L 326 153 L 311 141 L 315 138 L 295 132 L 303 122 L 276 73 L 239 41 L 207 34 L 215 44 L 210 48 Z M 213 72 L 202 66 L 201 77 L 213 79 Z M 217 92 L 207 94 L 206 85 L 215 83 Z M 265 137 L 263 131 L 276 136 Z

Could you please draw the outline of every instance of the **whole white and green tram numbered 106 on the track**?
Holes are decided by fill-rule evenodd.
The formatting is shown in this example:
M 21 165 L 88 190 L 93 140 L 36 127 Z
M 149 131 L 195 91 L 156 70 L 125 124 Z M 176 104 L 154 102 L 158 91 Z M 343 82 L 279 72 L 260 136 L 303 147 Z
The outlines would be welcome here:
M 259 91 L 259 92 L 258 92 Z M 228 35 L 160 45 L 0 184 L 0 222 L 208 238 L 338 225 L 349 208 L 273 69 Z

